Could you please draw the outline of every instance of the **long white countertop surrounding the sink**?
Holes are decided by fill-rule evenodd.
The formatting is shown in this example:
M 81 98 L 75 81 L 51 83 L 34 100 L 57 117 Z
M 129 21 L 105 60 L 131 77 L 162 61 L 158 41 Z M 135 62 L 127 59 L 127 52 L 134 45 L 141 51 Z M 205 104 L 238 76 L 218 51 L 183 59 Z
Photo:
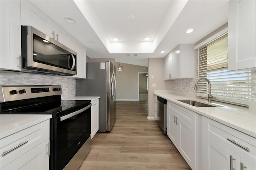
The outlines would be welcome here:
M 176 103 L 177 105 L 199 113 L 202 116 L 208 117 L 214 121 L 227 125 L 228 127 L 232 127 L 236 130 L 239 130 L 240 132 L 256 138 L 256 113 L 249 112 L 248 107 L 242 107 L 215 101 L 212 102 L 212 104 L 222 105 L 222 107 L 195 107 L 178 100 L 189 99 L 205 103 L 207 100 L 198 99 L 192 95 L 177 95 L 174 94 L 172 91 L 164 90 L 154 90 L 154 95 L 160 96 L 168 101 Z

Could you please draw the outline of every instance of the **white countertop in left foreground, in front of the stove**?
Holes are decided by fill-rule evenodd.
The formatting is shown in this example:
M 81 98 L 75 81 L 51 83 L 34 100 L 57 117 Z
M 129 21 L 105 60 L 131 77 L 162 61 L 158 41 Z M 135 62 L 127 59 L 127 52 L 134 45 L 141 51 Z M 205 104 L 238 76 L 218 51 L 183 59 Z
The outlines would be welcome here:
M 0 139 L 24 130 L 47 119 L 52 115 L 0 115 Z

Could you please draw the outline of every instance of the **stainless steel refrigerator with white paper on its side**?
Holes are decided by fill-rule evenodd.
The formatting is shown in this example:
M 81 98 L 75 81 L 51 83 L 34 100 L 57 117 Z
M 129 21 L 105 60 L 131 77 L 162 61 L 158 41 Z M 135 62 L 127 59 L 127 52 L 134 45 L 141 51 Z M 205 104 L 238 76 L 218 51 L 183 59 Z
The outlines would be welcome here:
M 116 67 L 111 61 L 87 63 L 86 79 L 76 80 L 76 96 L 100 96 L 99 131 L 108 132 L 116 122 Z

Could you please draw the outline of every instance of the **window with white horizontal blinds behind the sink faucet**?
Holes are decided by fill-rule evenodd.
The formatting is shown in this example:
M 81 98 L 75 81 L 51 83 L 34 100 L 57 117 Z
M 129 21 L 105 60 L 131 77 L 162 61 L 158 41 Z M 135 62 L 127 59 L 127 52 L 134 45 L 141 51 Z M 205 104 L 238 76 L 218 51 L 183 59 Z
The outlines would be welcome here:
M 251 71 L 228 71 L 228 34 L 196 49 L 197 78 L 211 81 L 216 100 L 248 105 L 251 99 Z M 207 97 L 208 84 L 198 82 L 196 95 Z

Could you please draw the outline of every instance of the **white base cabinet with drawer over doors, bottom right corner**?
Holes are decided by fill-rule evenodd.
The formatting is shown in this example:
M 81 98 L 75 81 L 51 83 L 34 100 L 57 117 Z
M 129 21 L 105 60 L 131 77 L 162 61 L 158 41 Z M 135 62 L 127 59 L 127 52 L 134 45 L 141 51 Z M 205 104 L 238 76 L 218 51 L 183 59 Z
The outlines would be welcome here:
M 203 117 L 202 139 L 202 169 L 256 170 L 256 138 Z

